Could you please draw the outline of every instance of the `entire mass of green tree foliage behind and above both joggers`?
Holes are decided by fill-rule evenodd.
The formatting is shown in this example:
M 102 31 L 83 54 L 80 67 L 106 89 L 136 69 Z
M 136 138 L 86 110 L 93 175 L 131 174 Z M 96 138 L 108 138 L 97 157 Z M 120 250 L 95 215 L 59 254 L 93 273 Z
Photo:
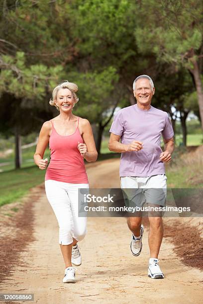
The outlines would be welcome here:
M 202 1 L 4 0 L 0 8 L 2 132 L 50 119 L 51 90 L 67 78 L 79 85 L 74 113 L 98 125 L 116 102 L 129 105 L 140 74 L 155 79 L 155 106 L 198 109 L 186 69 L 192 59 L 201 68 Z

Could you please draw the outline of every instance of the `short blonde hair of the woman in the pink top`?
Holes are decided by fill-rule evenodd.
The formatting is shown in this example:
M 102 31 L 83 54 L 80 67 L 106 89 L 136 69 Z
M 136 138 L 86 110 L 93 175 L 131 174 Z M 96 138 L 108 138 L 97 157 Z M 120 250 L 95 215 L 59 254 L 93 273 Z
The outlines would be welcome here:
M 59 107 L 56 105 L 55 100 L 57 98 L 57 94 L 58 91 L 61 88 L 67 88 L 71 91 L 72 95 L 73 95 L 73 99 L 74 99 L 74 104 L 77 103 L 79 101 L 79 98 L 76 95 L 76 92 L 78 91 L 78 86 L 76 83 L 73 82 L 69 82 L 68 80 L 63 80 L 63 82 L 61 82 L 59 85 L 57 85 L 52 92 L 52 99 L 50 99 L 49 104 L 53 105 L 57 108 L 57 110 L 59 110 Z

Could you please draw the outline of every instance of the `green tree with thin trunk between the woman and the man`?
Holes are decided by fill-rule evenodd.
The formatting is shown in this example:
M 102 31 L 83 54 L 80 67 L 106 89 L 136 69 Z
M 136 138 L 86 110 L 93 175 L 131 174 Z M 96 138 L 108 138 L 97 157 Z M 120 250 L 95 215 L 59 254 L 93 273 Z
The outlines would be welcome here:
M 114 110 L 122 98 L 122 89 L 118 85 L 118 75 L 113 67 L 102 72 L 78 73 L 68 75 L 79 86 L 79 100 L 75 113 L 97 124 L 96 148 L 100 153 L 102 133 L 113 116 Z

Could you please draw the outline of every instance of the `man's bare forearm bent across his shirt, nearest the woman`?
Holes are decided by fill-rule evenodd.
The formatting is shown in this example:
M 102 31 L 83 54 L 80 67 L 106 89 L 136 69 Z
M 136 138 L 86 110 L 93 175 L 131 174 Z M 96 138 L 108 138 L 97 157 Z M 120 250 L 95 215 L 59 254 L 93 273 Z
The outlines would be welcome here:
M 110 134 L 110 139 L 108 142 L 108 150 L 123 153 L 123 152 L 131 152 L 131 151 L 139 151 L 143 147 L 143 143 L 138 141 L 133 141 L 132 143 L 125 145 L 120 143 L 120 136 L 115 135 L 113 133 Z

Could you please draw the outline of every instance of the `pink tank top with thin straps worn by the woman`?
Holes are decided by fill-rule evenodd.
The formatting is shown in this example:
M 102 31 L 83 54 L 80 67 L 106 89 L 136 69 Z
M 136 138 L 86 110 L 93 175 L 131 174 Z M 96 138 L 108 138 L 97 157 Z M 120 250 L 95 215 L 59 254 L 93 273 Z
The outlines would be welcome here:
M 88 184 L 84 159 L 78 150 L 78 142 L 84 143 L 78 125 L 73 134 L 62 136 L 56 132 L 52 120 L 50 121 L 52 123 L 52 132 L 49 139 L 51 159 L 47 167 L 45 180 L 53 179 L 65 183 Z

